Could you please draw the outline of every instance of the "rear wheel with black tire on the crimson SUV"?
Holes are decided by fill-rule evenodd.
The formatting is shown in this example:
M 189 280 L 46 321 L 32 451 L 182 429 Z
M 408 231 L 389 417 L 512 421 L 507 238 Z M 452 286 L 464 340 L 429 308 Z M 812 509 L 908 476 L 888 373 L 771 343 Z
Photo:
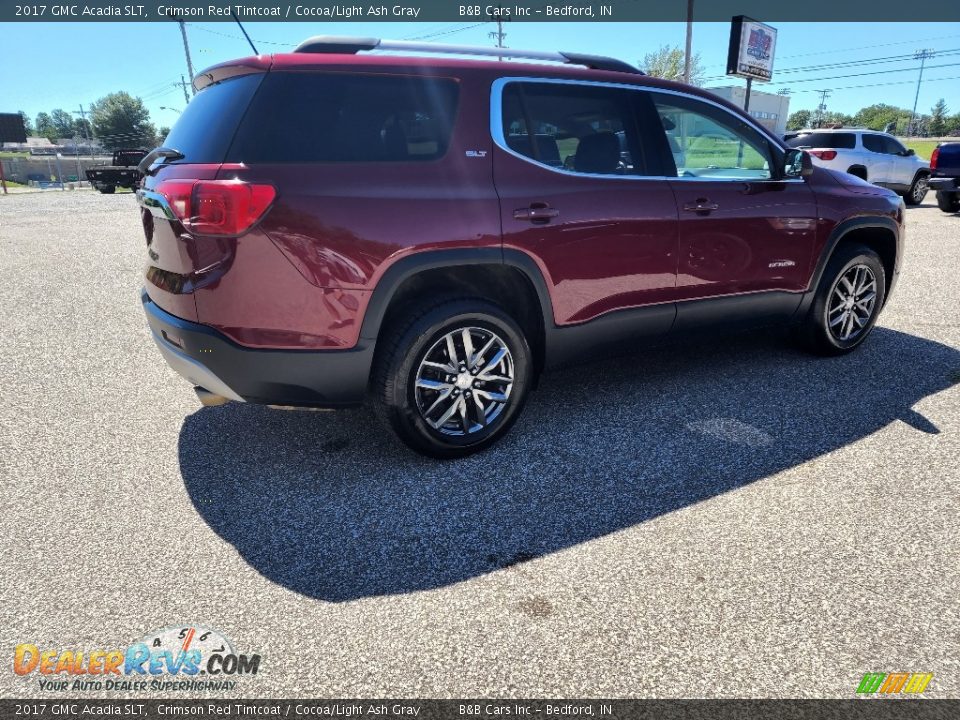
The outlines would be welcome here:
M 471 372 L 469 367 L 460 370 L 466 366 L 464 329 L 469 329 L 471 344 L 476 340 L 486 347 L 486 342 L 495 338 L 482 357 L 478 356 L 483 347 L 473 347 L 477 372 Z M 455 331 L 454 337 L 460 339 L 453 340 L 458 365 L 453 375 L 436 366 L 441 362 L 449 364 L 446 337 Z M 501 346 L 507 353 L 496 369 L 488 371 L 488 377 L 508 377 L 512 372 L 512 384 L 481 379 L 484 373 L 480 368 L 499 354 L 492 348 Z M 428 356 L 429 362 L 435 363 L 429 368 L 423 365 Z M 532 357 L 522 328 L 500 306 L 481 298 L 425 302 L 408 308 L 378 341 L 372 378 L 375 406 L 399 438 L 417 452 L 441 459 L 464 457 L 495 443 L 516 421 L 532 384 Z M 443 383 L 443 389 L 418 387 L 418 375 L 421 381 Z M 490 392 L 506 397 L 506 401 L 497 402 Z M 488 409 L 481 410 L 484 401 L 488 402 Z M 436 403 L 440 404 L 431 411 Z M 454 406 L 458 408 L 454 416 L 444 424 L 435 424 Z M 499 411 L 493 414 L 495 408 Z M 466 413 L 466 419 L 461 412 Z

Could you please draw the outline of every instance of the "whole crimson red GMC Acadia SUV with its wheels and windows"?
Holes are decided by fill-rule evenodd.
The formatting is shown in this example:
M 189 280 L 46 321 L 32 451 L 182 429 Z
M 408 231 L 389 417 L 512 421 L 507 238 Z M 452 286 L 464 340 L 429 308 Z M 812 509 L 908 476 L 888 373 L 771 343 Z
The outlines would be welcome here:
M 138 198 L 144 309 L 205 404 L 372 397 L 456 457 L 624 341 L 791 323 L 849 352 L 899 272 L 892 191 L 617 60 L 312 38 L 194 84 Z

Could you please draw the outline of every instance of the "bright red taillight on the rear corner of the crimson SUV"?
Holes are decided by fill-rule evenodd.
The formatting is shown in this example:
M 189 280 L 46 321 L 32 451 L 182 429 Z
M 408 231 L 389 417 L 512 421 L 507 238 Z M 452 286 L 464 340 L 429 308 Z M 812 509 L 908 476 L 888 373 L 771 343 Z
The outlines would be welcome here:
M 195 235 L 242 235 L 277 197 L 273 185 L 242 180 L 164 180 L 156 191 Z

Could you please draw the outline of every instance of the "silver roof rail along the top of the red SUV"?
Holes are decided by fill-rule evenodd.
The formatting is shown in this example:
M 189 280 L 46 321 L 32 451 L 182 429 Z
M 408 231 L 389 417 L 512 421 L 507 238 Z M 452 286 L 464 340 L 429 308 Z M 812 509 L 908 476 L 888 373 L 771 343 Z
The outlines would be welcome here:
M 583 65 L 592 70 L 613 70 L 643 75 L 641 70 L 623 60 L 602 55 L 583 55 L 549 50 L 513 50 L 511 48 L 481 47 L 478 45 L 446 45 L 409 40 L 381 40 L 380 38 L 341 37 L 315 35 L 300 43 L 297 53 L 340 53 L 354 55 L 369 50 L 400 50 L 406 52 L 431 52 L 446 55 L 481 55 L 486 57 L 522 58 L 525 60 L 548 60 L 569 65 Z

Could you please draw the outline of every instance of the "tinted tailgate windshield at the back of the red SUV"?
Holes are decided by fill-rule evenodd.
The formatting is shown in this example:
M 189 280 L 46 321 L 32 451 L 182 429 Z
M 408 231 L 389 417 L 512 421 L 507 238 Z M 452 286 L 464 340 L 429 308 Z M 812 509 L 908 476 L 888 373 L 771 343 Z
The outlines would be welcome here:
M 262 73 L 210 85 L 187 104 L 163 144 L 183 153 L 183 162 L 223 162 Z

